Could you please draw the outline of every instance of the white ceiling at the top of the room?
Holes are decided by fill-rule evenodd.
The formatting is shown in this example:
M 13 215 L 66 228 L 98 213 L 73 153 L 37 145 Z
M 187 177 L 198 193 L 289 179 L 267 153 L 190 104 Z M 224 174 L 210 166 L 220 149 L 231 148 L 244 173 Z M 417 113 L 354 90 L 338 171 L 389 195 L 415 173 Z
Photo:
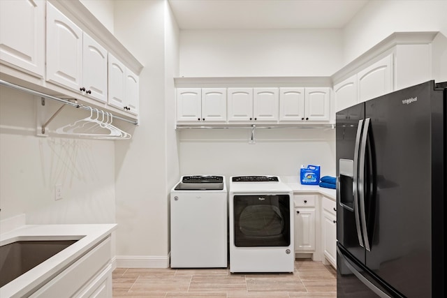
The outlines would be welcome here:
M 339 29 L 369 0 L 168 1 L 180 29 Z

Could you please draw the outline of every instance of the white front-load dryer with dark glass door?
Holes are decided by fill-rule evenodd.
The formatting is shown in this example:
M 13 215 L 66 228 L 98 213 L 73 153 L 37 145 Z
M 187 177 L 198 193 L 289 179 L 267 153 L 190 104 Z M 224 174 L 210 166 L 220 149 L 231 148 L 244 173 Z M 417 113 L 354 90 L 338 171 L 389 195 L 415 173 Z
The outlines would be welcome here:
M 293 272 L 293 191 L 276 176 L 229 183 L 230 272 Z

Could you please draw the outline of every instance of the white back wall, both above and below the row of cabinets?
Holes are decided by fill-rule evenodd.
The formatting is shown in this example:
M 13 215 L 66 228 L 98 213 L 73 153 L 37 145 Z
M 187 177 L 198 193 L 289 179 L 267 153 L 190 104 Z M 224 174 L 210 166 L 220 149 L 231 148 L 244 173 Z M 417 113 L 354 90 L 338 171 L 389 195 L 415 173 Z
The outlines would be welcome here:
M 330 76 L 341 68 L 342 30 L 183 30 L 180 76 Z M 302 164 L 335 175 L 335 131 L 182 130 L 181 174 L 296 176 Z

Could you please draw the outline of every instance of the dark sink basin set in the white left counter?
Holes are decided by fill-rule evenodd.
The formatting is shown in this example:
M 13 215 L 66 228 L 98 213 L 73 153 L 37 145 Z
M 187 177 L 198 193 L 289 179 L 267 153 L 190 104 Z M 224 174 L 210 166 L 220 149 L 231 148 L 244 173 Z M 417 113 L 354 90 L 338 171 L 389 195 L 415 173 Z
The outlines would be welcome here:
M 24 239 L 0 246 L 0 288 L 76 241 Z

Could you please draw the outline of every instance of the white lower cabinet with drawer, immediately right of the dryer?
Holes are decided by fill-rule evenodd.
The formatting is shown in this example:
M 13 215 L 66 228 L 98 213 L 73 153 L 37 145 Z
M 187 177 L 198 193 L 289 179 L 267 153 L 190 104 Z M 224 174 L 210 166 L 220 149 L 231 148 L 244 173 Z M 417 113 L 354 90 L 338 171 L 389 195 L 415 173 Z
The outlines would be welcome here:
M 316 195 L 294 195 L 295 253 L 315 252 Z

